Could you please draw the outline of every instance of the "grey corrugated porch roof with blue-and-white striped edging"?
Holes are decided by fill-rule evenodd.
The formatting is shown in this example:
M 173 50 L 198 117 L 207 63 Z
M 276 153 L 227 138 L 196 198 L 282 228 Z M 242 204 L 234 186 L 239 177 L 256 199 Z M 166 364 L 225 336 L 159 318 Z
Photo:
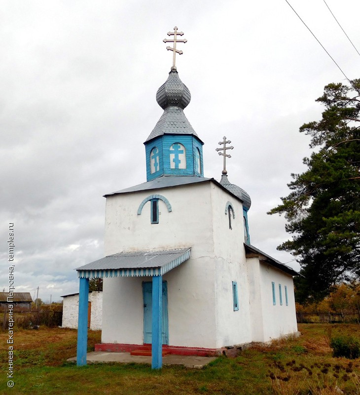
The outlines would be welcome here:
M 79 277 L 163 275 L 190 258 L 190 247 L 160 251 L 119 252 L 77 268 Z

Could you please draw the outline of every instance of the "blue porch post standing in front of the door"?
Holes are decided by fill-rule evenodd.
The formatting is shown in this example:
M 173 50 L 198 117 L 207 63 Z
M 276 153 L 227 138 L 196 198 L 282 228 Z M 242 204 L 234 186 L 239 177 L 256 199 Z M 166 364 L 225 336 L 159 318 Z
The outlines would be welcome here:
M 151 368 L 162 367 L 162 276 L 152 277 Z

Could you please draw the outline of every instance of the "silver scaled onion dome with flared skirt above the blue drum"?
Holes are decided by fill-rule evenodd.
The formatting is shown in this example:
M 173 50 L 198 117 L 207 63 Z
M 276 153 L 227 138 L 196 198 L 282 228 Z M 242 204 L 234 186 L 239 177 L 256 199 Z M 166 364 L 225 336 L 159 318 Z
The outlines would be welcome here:
M 164 113 L 145 143 L 164 134 L 190 134 L 199 138 L 182 111 L 190 103 L 190 99 L 189 89 L 172 68 L 168 79 L 156 92 L 156 101 Z

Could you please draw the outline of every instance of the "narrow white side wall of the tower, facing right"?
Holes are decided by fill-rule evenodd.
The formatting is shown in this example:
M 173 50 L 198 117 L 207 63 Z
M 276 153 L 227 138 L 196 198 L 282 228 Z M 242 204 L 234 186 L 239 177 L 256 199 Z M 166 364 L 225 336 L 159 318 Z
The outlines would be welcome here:
M 216 257 L 216 348 L 252 341 L 249 308 L 249 283 L 244 248 L 242 203 L 226 191 L 212 185 L 214 254 Z M 235 218 L 225 214 L 226 203 Z M 237 282 L 239 310 L 234 311 L 232 282 Z

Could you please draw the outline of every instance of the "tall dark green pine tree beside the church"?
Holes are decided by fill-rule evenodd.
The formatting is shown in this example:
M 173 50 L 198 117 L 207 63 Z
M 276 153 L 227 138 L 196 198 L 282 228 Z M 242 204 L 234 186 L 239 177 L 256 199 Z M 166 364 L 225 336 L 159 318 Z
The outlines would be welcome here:
M 292 239 L 278 249 L 299 256 L 296 297 L 320 300 L 331 286 L 360 276 L 360 79 L 330 83 L 317 99 L 320 121 L 305 123 L 311 136 L 308 169 L 291 174 L 292 191 L 268 214 L 285 214 Z

